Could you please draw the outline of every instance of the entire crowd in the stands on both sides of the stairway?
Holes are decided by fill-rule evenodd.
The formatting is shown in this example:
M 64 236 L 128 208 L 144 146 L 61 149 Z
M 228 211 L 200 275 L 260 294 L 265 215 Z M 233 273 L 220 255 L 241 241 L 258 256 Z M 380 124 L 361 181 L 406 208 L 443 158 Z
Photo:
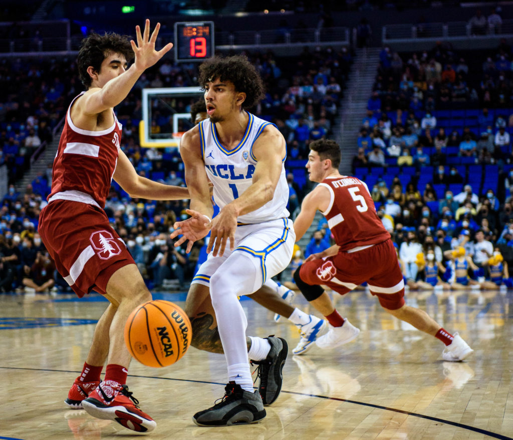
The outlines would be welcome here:
M 309 189 L 304 170 L 308 144 L 332 133 L 352 53 L 328 48 L 305 49 L 294 59 L 278 59 L 272 52 L 249 57 L 267 89 L 253 112 L 275 123 L 287 140 L 288 208 L 293 213 Z M 453 288 L 464 285 L 466 271 L 467 283 L 482 288 L 491 286 L 484 276 L 500 272 L 508 279 L 507 263 L 513 262 L 510 47 L 502 42 L 494 54 L 471 55 L 447 44 L 408 54 L 384 48 L 380 58 L 353 174 L 369 186 L 378 215 L 398 246 L 408 285 L 432 284 L 435 266 L 436 283 L 443 282 L 440 275 Z M 177 149 L 141 148 L 136 127 L 142 118 L 142 88 L 194 85 L 196 68 L 166 61 L 142 75 L 116 108 L 123 123 L 121 147 L 141 175 L 185 184 Z M 10 89 L 12 81 L 20 87 Z M 16 192 L 14 182 L 32 152 L 52 139 L 52 128 L 83 88 L 74 62 L 66 59 L 5 61 L 0 85 L 0 162 L 9 164 L 10 173 L 0 207 L 0 289 L 66 291 L 37 234 L 51 164 L 23 193 Z M 173 107 L 188 112 L 193 103 L 175 99 Z M 164 107 L 152 109 L 154 132 L 170 132 Z M 174 221 L 186 217 L 187 206 L 187 201 L 130 200 L 113 182 L 106 213 L 152 288 L 169 285 L 169 279 L 176 288 L 185 286 L 204 257 L 202 242 L 186 254 L 168 239 Z M 292 264 L 330 245 L 328 225 L 321 220 L 317 229 L 305 250 L 294 253 Z

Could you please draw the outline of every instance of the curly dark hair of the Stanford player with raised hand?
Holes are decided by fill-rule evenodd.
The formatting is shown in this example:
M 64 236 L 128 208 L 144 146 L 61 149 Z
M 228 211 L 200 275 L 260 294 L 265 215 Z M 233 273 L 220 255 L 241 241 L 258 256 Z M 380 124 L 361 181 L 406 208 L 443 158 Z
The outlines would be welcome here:
M 76 63 L 80 80 L 86 88 L 91 87 L 92 84 L 87 68 L 92 66 L 96 72 L 100 72 L 103 60 L 111 53 L 121 53 L 125 56 L 127 62 L 131 61 L 134 54 L 130 37 L 117 33 L 100 35 L 93 32 L 82 40 Z

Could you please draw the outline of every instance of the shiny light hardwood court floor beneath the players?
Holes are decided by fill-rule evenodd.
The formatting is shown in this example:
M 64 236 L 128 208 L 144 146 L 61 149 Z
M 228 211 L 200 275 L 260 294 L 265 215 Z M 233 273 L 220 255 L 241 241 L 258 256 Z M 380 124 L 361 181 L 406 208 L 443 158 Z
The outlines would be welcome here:
M 155 294 L 183 305 L 184 294 Z M 444 362 L 443 344 L 383 312 L 376 298 L 354 292 L 338 299 L 361 329 L 333 351 L 289 354 L 283 391 L 260 424 L 202 428 L 192 414 L 223 395 L 223 355 L 191 348 L 163 369 L 133 361 L 128 384 L 157 422 L 145 435 L 174 439 L 478 439 L 513 437 L 513 292 L 408 293 L 449 332 L 475 350 L 465 362 Z M 295 304 L 308 310 L 304 300 Z M 0 295 L 0 438 L 97 440 L 135 438 L 109 420 L 68 410 L 64 398 L 81 371 L 106 302 L 99 295 Z M 243 301 L 248 334 L 299 340 L 287 322 Z

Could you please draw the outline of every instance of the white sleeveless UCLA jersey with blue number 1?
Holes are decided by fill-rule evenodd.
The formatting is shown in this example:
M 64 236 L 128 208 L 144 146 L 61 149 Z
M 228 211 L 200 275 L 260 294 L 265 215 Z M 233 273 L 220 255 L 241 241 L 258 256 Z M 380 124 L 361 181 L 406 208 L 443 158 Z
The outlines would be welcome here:
M 221 145 L 215 124 L 206 119 L 199 124 L 202 156 L 207 176 L 214 185 L 214 201 L 222 209 L 241 196 L 253 183 L 253 173 L 257 159 L 252 154 L 252 146 L 267 125 L 274 125 L 248 113 L 248 126 L 242 141 L 231 151 Z M 241 223 L 261 223 L 279 218 L 287 218 L 289 190 L 282 160 L 282 173 L 274 197 L 253 212 L 238 218 Z

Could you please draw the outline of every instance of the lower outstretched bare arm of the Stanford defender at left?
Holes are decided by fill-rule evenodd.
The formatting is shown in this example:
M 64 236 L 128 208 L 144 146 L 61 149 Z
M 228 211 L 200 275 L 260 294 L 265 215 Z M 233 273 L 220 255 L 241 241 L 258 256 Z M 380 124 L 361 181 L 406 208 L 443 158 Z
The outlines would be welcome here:
M 182 186 L 165 185 L 139 176 L 125 153 L 120 150 L 113 179 L 132 198 L 149 200 L 181 200 L 189 198 L 189 191 Z

